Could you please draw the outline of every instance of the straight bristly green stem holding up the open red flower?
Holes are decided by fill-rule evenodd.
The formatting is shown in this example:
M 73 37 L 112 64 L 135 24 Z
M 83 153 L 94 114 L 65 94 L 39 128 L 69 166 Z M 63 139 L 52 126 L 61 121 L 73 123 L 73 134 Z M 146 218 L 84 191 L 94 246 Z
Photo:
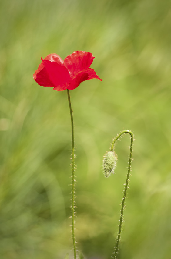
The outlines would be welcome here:
M 72 220 L 72 242 L 73 242 L 73 249 L 74 249 L 74 259 L 76 259 L 76 243 L 75 243 L 75 155 L 74 155 L 74 123 L 73 123 L 73 116 L 72 116 L 72 108 L 71 108 L 71 99 L 69 95 L 69 90 L 67 89 L 68 94 L 68 102 L 69 102 L 69 110 L 71 116 L 71 129 L 72 129 L 72 203 L 71 203 L 71 220 Z

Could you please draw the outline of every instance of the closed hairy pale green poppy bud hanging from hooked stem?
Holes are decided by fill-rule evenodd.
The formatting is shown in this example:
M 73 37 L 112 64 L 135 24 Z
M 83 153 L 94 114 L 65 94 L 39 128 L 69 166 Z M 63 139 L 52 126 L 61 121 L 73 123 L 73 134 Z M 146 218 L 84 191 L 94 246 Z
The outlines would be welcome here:
M 103 159 L 103 172 L 105 177 L 109 177 L 111 175 L 111 173 L 114 174 L 114 170 L 116 168 L 116 154 L 112 151 L 108 151 L 106 152 L 106 154 L 104 155 L 104 159 Z

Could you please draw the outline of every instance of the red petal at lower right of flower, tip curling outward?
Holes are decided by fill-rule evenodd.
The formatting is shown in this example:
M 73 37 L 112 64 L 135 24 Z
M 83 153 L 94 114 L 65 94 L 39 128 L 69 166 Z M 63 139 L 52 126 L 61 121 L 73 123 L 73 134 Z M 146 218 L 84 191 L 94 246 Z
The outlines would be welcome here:
M 67 87 L 67 89 L 73 90 L 77 88 L 81 82 L 85 80 L 93 79 L 93 78 L 96 78 L 102 81 L 102 79 L 100 79 L 99 76 L 97 76 L 94 69 L 92 68 L 84 69 L 81 72 L 79 72 L 77 75 L 74 75 L 71 77 L 71 82 Z

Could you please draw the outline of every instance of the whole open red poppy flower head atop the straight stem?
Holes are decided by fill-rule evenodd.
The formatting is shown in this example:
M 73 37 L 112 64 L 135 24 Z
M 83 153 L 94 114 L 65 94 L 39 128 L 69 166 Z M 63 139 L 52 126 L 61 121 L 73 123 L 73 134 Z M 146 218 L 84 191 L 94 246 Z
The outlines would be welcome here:
M 92 68 L 89 68 L 93 59 L 92 53 L 85 51 L 74 51 L 64 60 L 57 54 L 49 54 L 42 59 L 33 78 L 39 85 L 50 86 L 57 91 L 73 90 L 85 80 L 102 80 Z

